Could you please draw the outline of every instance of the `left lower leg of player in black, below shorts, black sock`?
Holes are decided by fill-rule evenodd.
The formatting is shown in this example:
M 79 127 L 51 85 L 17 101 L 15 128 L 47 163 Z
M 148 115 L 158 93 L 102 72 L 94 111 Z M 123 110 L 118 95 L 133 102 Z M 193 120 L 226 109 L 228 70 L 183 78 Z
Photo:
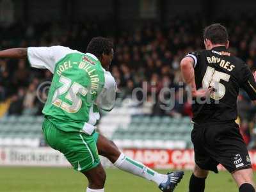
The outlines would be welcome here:
M 189 192 L 204 192 L 205 179 L 209 171 L 201 169 L 197 164 L 189 180 Z

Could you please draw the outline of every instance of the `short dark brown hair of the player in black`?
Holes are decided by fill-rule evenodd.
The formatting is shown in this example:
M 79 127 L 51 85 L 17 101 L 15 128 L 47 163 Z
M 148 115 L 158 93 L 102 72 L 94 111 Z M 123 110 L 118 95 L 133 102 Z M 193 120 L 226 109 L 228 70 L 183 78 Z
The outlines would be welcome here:
M 204 29 L 204 40 L 211 40 L 212 44 L 226 44 L 228 31 L 220 23 L 211 24 Z

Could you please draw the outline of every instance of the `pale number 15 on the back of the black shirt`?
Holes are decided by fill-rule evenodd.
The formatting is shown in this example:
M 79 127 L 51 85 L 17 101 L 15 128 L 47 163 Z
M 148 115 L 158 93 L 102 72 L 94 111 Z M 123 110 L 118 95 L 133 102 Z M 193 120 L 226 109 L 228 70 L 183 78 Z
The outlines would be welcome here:
M 203 88 L 214 88 L 214 92 L 211 93 L 210 97 L 214 100 L 220 100 L 226 93 L 224 84 L 220 83 L 220 80 L 229 81 L 230 75 L 215 70 L 213 67 L 207 67 L 204 79 L 202 82 Z

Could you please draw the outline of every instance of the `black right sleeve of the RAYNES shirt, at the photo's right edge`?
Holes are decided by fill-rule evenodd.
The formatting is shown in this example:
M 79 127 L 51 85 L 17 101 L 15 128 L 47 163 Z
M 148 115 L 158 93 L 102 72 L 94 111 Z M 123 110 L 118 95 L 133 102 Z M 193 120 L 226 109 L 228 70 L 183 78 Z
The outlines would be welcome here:
M 256 100 L 256 82 L 248 65 L 244 65 L 241 72 L 243 74 L 241 88 L 248 94 L 250 99 Z

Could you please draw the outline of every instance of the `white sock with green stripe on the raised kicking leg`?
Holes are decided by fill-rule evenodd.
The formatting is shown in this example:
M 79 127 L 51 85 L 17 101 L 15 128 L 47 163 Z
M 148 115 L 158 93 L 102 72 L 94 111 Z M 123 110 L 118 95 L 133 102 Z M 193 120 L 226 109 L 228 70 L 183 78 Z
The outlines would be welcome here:
M 157 185 L 161 184 L 161 182 L 166 182 L 168 179 L 167 175 L 157 173 L 144 164 L 125 156 L 125 154 L 120 154 L 114 165 L 125 172 L 138 175 L 147 180 L 152 180 L 156 182 Z

